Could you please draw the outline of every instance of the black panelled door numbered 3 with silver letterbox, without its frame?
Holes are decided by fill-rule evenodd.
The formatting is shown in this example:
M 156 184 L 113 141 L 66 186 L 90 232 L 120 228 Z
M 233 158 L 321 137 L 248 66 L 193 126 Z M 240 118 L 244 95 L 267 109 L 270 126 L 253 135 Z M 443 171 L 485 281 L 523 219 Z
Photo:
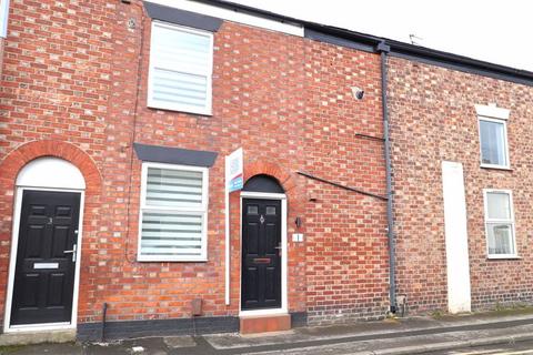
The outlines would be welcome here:
M 80 193 L 24 191 L 11 325 L 70 322 Z

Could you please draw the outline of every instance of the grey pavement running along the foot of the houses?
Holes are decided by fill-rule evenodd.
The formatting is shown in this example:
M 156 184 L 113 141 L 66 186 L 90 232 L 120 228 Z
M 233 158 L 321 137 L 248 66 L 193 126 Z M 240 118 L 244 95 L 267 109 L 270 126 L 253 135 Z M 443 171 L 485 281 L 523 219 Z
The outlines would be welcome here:
M 496 345 L 512 348 L 515 344 L 529 344 L 527 342 L 531 342 L 533 348 L 533 310 L 385 320 L 248 336 L 217 334 L 197 337 L 150 337 L 110 343 L 41 344 L 4 347 L 0 348 L 0 354 L 411 355 L 451 354 L 450 352 L 454 349 Z

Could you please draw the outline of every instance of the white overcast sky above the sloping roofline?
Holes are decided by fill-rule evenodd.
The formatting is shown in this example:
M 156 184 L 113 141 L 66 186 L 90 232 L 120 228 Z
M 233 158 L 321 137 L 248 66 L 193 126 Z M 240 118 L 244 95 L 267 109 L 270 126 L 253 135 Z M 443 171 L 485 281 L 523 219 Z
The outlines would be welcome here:
M 533 71 L 533 0 L 230 0 Z

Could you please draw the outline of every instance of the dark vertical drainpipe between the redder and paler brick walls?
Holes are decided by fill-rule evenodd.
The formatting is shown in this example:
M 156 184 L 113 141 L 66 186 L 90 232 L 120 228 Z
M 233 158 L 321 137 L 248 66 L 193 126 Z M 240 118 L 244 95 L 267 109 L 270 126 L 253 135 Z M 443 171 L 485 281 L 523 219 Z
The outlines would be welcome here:
M 389 138 L 389 102 L 386 100 L 386 54 L 391 48 L 380 42 L 375 48 L 381 55 L 381 104 L 383 106 L 383 138 L 385 140 L 385 174 L 386 174 L 386 236 L 389 239 L 389 297 L 391 313 L 396 313 L 396 266 L 394 255 L 394 216 L 392 214 L 392 171 L 391 141 Z

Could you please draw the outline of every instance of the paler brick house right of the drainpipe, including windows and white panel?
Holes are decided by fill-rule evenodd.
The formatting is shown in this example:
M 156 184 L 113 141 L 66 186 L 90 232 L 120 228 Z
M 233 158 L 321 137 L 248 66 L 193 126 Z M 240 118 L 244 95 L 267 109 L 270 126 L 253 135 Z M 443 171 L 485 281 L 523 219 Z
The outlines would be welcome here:
M 531 80 L 388 64 L 398 293 L 416 313 L 531 304 Z

